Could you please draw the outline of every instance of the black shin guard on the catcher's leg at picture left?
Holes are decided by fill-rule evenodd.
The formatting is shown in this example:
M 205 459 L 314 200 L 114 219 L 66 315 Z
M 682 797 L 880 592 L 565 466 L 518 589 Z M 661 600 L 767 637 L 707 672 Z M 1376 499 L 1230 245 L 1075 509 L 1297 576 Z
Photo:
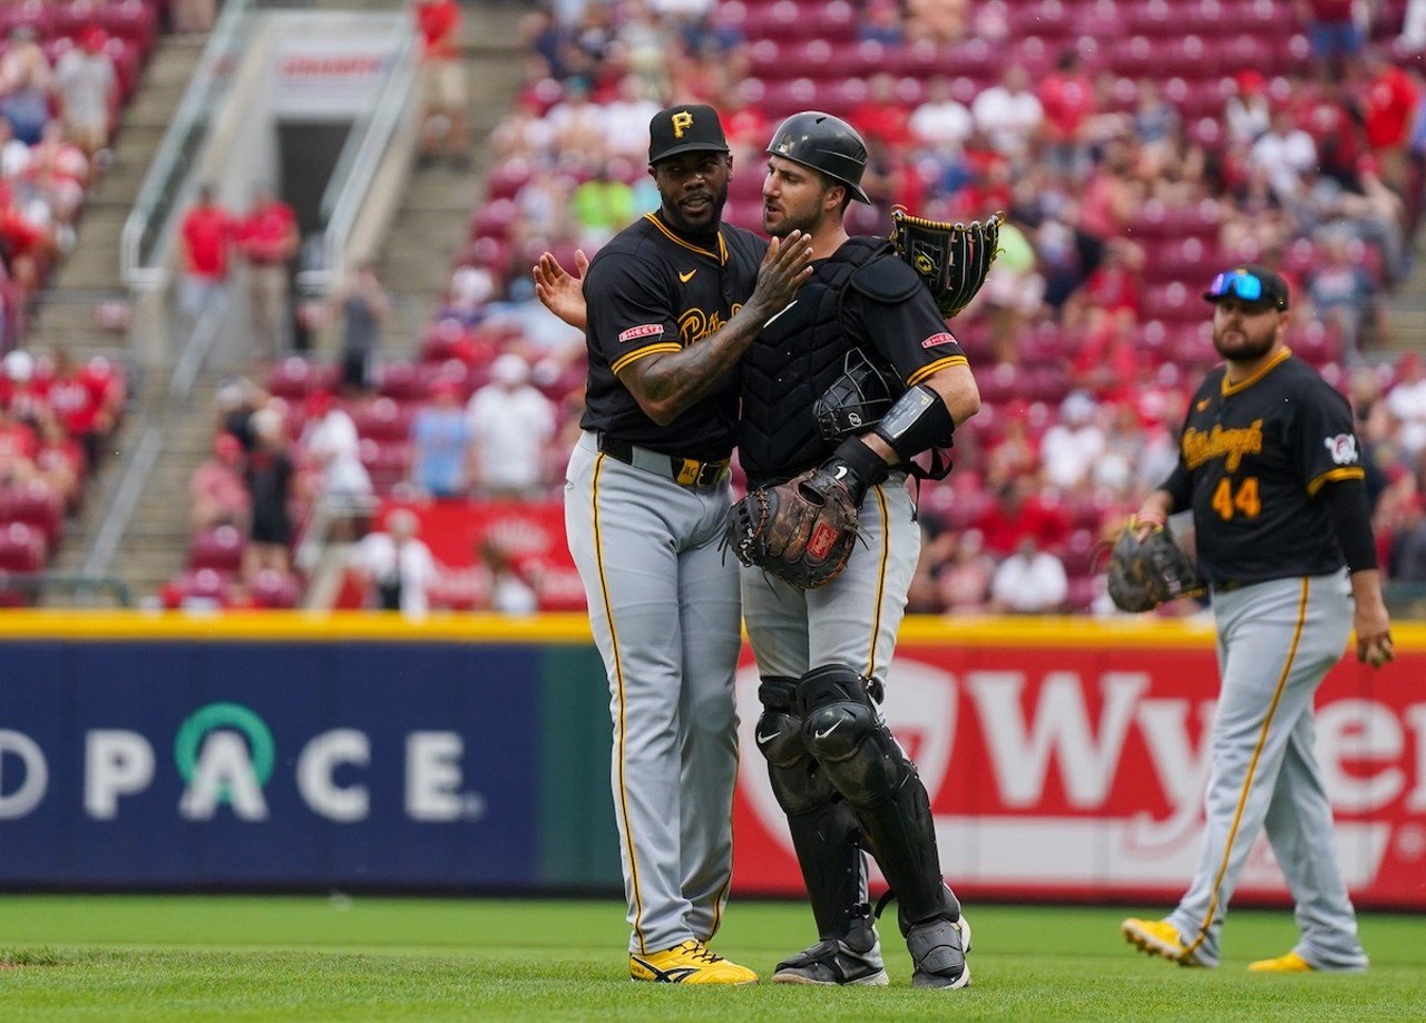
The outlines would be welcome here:
M 843 937 L 848 920 L 867 912 L 866 860 L 856 816 L 803 743 L 796 693 L 796 679 L 763 681 L 757 695 L 764 711 L 754 736 L 787 815 L 817 935 Z

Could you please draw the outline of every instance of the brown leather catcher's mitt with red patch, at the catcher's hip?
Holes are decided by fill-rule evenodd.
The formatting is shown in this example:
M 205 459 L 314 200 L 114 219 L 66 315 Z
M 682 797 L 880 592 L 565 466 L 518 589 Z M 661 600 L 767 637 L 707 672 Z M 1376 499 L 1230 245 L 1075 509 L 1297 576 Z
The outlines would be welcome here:
M 733 505 L 723 541 L 744 565 L 816 589 L 846 568 L 857 541 L 857 507 L 846 482 L 809 469 Z

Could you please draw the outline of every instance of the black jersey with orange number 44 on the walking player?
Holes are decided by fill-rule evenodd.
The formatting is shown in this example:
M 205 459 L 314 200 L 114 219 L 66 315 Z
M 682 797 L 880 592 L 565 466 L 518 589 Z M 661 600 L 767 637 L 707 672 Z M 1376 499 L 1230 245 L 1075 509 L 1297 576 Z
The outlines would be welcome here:
M 1326 575 L 1345 564 L 1326 484 L 1362 479 L 1352 409 L 1286 348 L 1229 384 L 1218 367 L 1188 405 L 1164 484 L 1194 509 L 1199 574 L 1214 584 Z

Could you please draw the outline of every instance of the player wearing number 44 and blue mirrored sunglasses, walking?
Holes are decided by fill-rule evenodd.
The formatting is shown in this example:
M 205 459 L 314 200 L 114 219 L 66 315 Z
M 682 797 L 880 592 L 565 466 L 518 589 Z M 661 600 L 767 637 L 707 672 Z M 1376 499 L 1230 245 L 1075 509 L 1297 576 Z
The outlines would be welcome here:
M 1222 685 L 1212 725 L 1208 830 L 1188 892 L 1125 937 L 1185 966 L 1216 966 L 1228 903 L 1262 830 L 1296 903 L 1298 945 L 1248 969 L 1365 970 L 1313 752 L 1312 699 L 1340 661 L 1392 659 L 1352 411 L 1285 345 L 1288 287 L 1265 267 L 1228 270 L 1214 302 L 1226 362 L 1194 394 L 1178 468 L 1138 511 L 1145 529 L 1192 511 L 1212 591 Z

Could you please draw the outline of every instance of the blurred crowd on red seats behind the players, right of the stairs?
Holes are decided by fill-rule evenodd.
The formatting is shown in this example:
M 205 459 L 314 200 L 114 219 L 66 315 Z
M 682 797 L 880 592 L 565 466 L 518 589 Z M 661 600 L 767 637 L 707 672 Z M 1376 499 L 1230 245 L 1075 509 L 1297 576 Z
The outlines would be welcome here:
M 730 223 L 760 225 L 763 146 L 809 107 L 868 140 L 874 203 L 856 230 L 884 233 L 893 204 L 1008 217 L 985 291 L 953 324 L 985 404 L 951 477 L 920 491 L 913 611 L 1111 612 L 1105 531 L 1172 465 L 1186 388 L 1216 361 L 1202 285 L 1249 260 L 1291 281 L 1292 348 L 1355 404 L 1389 576 L 1426 584 L 1426 371 L 1387 347 L 1383 314 L 1420 215 L 1426 4 L 563 0 L 528 17 L 525 41 L 469 243 L 409 358 L 372 360 L 358 340 L 337 364 L 284 360 L 247 387 L 268 442 L 292 452 L 284 529 L 322 494 L 560 499 L 585 350 L 539 310 L 529 267 L 543 250 L 573 267 L 657 205 L 647 123 L 680 98 L 723 114 Z M 372 294 L 369 273 L 342 302 Z M 235 485 L 241 451 L 220 444 L 215 464 L 235 461 L 218 525 L 257 546 L 261 488 Z M 411 529 L 354 555 L 368 605 L 396 606 L 372 579 L 391 578 L 388 534 Z M 359 566 L 371 558 L 385 571 Z M 421 608 L 442 606 L 439 566 L 415 562 Z M 251 564 L 250 582 L 288 569 Z M 512 606 L 543 606 L 525 584 Z

